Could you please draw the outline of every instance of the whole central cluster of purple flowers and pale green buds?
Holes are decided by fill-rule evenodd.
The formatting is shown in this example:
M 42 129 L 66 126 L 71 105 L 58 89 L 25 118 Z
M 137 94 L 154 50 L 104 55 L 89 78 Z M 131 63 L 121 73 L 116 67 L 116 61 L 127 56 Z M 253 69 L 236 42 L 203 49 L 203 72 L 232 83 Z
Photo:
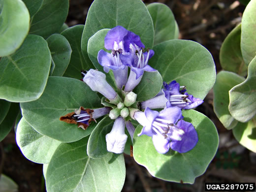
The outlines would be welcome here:
M 138 136 L 145 134 L 152 137 L 159 153 L 164 154 L 170 148 L 179 153 L 190 151 L 196 145 L 198 137 L 193 125 L 182 120 L 182 109 L 195 108 L 203 101 L 189 95 L 184 86 L 172 81 L 169 84 L 164 82 L 163 89 L 157 96 L 138 103 L 137 95 L 132 91 L 140 83 L 144 71 L 156 71 L 148 65 L 154 51 L 145 49 L 140 37 L 122 26 L 117 26 L 106 34 L 104 46 L 109 52 L 99 50 L 98 63 L 106 73 L 110 69 L 113 71 L 117 92 L 108 84 L 103 72 L 95 69 L 82 72 L 83 81 L 93 91 L 103 95 L 101 103 L 105 107 L 94 110 L 80 108 L 61 117 L 61 120 L 78 123 L 79 126 L 82 124 L 82 128 L 86 128 L 91 121 L 108 114 L 114 120 L 114 125 L 106 134 L 106 143 L 107 150 L 113 153 L 124 151 L 128 138 L 125 128 L 133 138 L 135 128 L 131 119 L 143 126 Z M 163 108 L 160 112 L 152 110 L 160 108 Z

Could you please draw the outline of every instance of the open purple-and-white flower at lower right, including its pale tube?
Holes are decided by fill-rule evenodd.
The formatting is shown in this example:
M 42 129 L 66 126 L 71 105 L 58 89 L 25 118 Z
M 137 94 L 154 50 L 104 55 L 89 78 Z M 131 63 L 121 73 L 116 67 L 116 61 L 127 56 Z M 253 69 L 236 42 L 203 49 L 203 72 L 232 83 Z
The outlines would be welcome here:
M 146 108 L 144 113 L 136 111 L 133 117 L 143 126 L 138 136 L 151 136 L 156 150 L 161 154 L 168 152 L 169 148 L 186 153 L 198 141 L 192 124 L 180 120 L 183 117 L 178 107 L 165 108 L 160 112 Z

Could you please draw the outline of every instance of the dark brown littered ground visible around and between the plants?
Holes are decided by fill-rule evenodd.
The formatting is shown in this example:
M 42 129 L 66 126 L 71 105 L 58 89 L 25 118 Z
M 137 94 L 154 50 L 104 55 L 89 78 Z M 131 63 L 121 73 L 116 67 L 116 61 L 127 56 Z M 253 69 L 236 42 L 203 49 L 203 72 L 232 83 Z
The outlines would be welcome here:
M 68 26 L 84 24 L 92 0 L 70 0 Z M 227 34 L 241 21 L 245 6 L 237 0 L 145 0 L 162 2 L 173 11 L 181 39 L 191 39 L 206 47 L 213 55 L 217 72 L 221 70 L 219 52 Z M 213 93 L 197 108 L 216 125 L 220 146 L 205 174 L 193 185 L 161 181 L 125 156 L 127 177 L 123 192 L 203 192 L 205 182 L 256 182 L 256 154 L 234 139 L 213 112 Z M 0 143 L 4 153 L 2 172 L 19 185 L 19 192 L 44 192 L 42 165 L 27 160 L 19 150 L 14 131 Z M 1 157 L 1 156 L 0 156 Z

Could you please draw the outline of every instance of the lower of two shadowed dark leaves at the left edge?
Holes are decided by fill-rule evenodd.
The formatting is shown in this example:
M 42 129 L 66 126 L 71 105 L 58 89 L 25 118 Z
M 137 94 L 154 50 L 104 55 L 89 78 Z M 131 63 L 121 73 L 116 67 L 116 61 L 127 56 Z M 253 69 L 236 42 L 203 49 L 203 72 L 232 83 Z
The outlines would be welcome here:
M 11 103 L 10 109 L 0 124 L 0 141 L 11 131 L 19 113 L 19 103 Z

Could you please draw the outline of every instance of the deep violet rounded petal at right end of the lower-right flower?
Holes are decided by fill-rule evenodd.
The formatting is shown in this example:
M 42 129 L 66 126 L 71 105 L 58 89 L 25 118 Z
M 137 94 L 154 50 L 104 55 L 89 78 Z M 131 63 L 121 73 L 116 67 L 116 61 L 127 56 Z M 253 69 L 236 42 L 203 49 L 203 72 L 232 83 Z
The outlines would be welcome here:
M 196 145 L 198 141 L 197 132 L 191 123 L 184 120 L 180 120 L 177 123 L 177 127 L 184 130 L 185 133 L 182 135 L 181 141 L 172 140 L 170 147 L 172 150 L 179 153 L 186 153 L 192 150 Z

